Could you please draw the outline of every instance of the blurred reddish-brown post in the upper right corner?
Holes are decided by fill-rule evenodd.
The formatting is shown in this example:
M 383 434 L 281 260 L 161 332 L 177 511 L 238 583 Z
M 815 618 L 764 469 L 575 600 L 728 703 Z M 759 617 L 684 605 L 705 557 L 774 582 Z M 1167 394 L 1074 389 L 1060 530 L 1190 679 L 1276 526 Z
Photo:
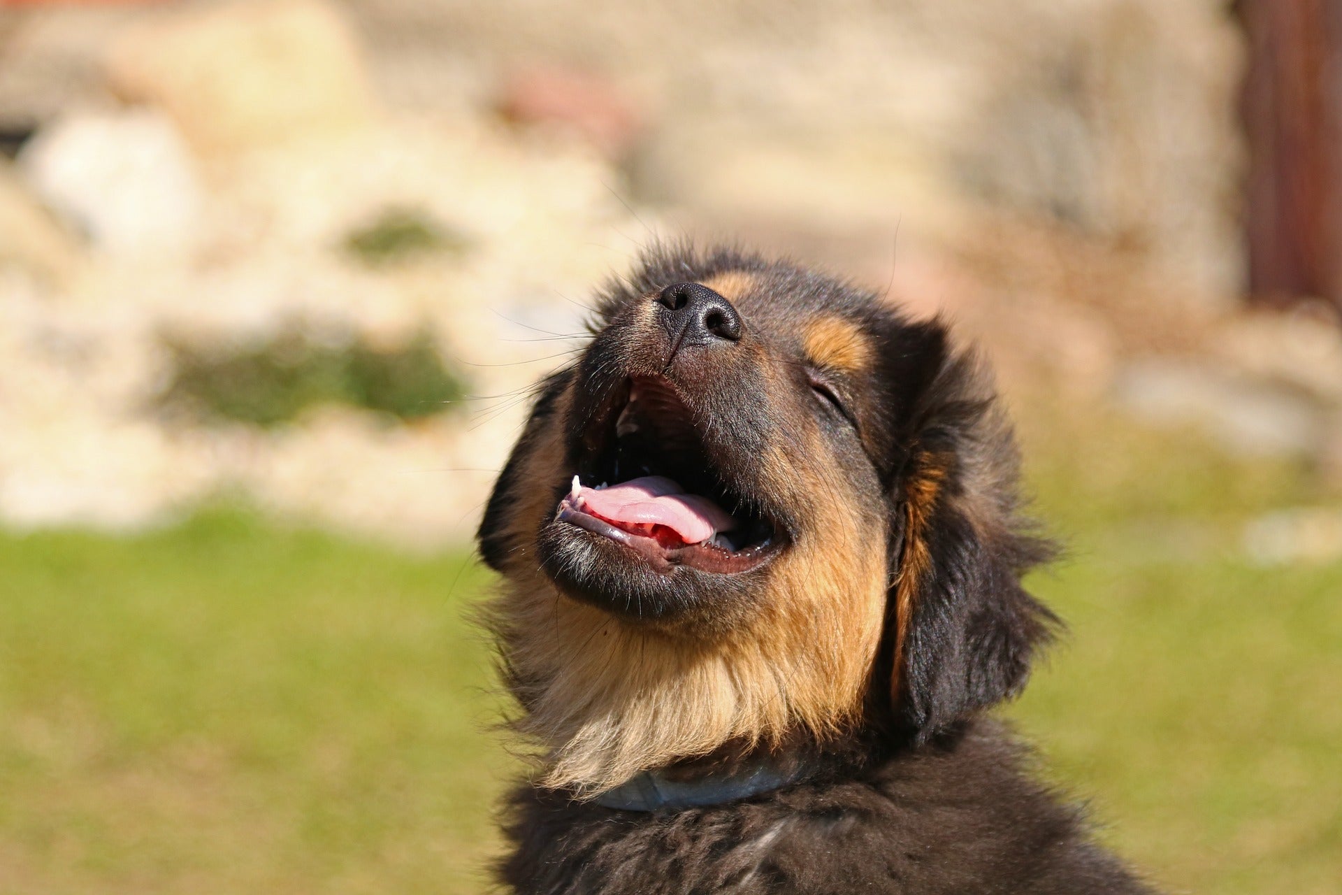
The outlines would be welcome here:
M 1342 309 L 1342 0 L 1240 0 L 1253 301 Z

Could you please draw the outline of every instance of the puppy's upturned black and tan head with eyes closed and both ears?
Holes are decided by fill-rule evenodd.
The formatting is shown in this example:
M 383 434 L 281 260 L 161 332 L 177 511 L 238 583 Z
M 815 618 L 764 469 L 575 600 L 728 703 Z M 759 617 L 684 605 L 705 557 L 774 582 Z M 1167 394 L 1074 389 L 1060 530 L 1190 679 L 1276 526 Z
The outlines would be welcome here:
M 939 323 L 731 251 L 651 252 L 544 385 L 479 531 L 546 785 L 1013 694 L 1015 452 Z

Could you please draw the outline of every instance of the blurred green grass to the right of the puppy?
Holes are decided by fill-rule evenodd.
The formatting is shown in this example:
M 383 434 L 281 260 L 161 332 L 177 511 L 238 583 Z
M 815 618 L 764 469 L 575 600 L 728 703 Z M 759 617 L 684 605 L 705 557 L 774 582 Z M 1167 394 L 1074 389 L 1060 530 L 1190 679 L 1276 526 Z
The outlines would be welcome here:
M 1170 891 L 1335 895 L 1342 562 L 1257 568 L 1241 539 L 1337 495 L 1192 433 L 1027 419 L 1037 511 L 1068 551 L 1031 585 L 1070 633 L 1011 715 Z

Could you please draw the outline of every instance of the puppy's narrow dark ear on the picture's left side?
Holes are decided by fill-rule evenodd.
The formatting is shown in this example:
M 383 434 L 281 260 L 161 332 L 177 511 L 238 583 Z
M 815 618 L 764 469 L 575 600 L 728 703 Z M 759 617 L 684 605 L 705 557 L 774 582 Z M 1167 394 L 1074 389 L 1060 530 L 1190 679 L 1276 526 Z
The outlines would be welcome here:
M 569 370 L 560 370 L 541 382 L 522 436 L 513 445 L 513 452 L 509 454 L 507 463 L 503 464 L 499 478 L 494 482 L 494 491 L 484 505 L 475 542 L 480 560 L 495 572 L 503 572 L 509 557 L 525 550 L 529 534 L 534 534 L 527 531 L 525 522 L 533 510 L 531 505 L 535 503 L 537 484 L 534 476 L 526 476 L 523 472 L 537 459 L 554 463 L 560 460 L 546 455 L 553 455 L 557 450 L 558 423 L 554 420 L 554 409 L 569 384 Z

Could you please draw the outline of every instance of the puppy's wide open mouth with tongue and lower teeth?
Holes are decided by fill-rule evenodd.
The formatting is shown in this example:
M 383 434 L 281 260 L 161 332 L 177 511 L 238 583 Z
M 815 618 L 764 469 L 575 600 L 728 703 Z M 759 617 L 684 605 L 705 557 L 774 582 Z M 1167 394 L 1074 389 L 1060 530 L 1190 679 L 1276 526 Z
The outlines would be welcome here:
M 584 444 L 556 518 L 629 547 L 654 570 L 734 574 L 782 547 L 780 526 L 723 482 L 664 380 L 631 380 Z

